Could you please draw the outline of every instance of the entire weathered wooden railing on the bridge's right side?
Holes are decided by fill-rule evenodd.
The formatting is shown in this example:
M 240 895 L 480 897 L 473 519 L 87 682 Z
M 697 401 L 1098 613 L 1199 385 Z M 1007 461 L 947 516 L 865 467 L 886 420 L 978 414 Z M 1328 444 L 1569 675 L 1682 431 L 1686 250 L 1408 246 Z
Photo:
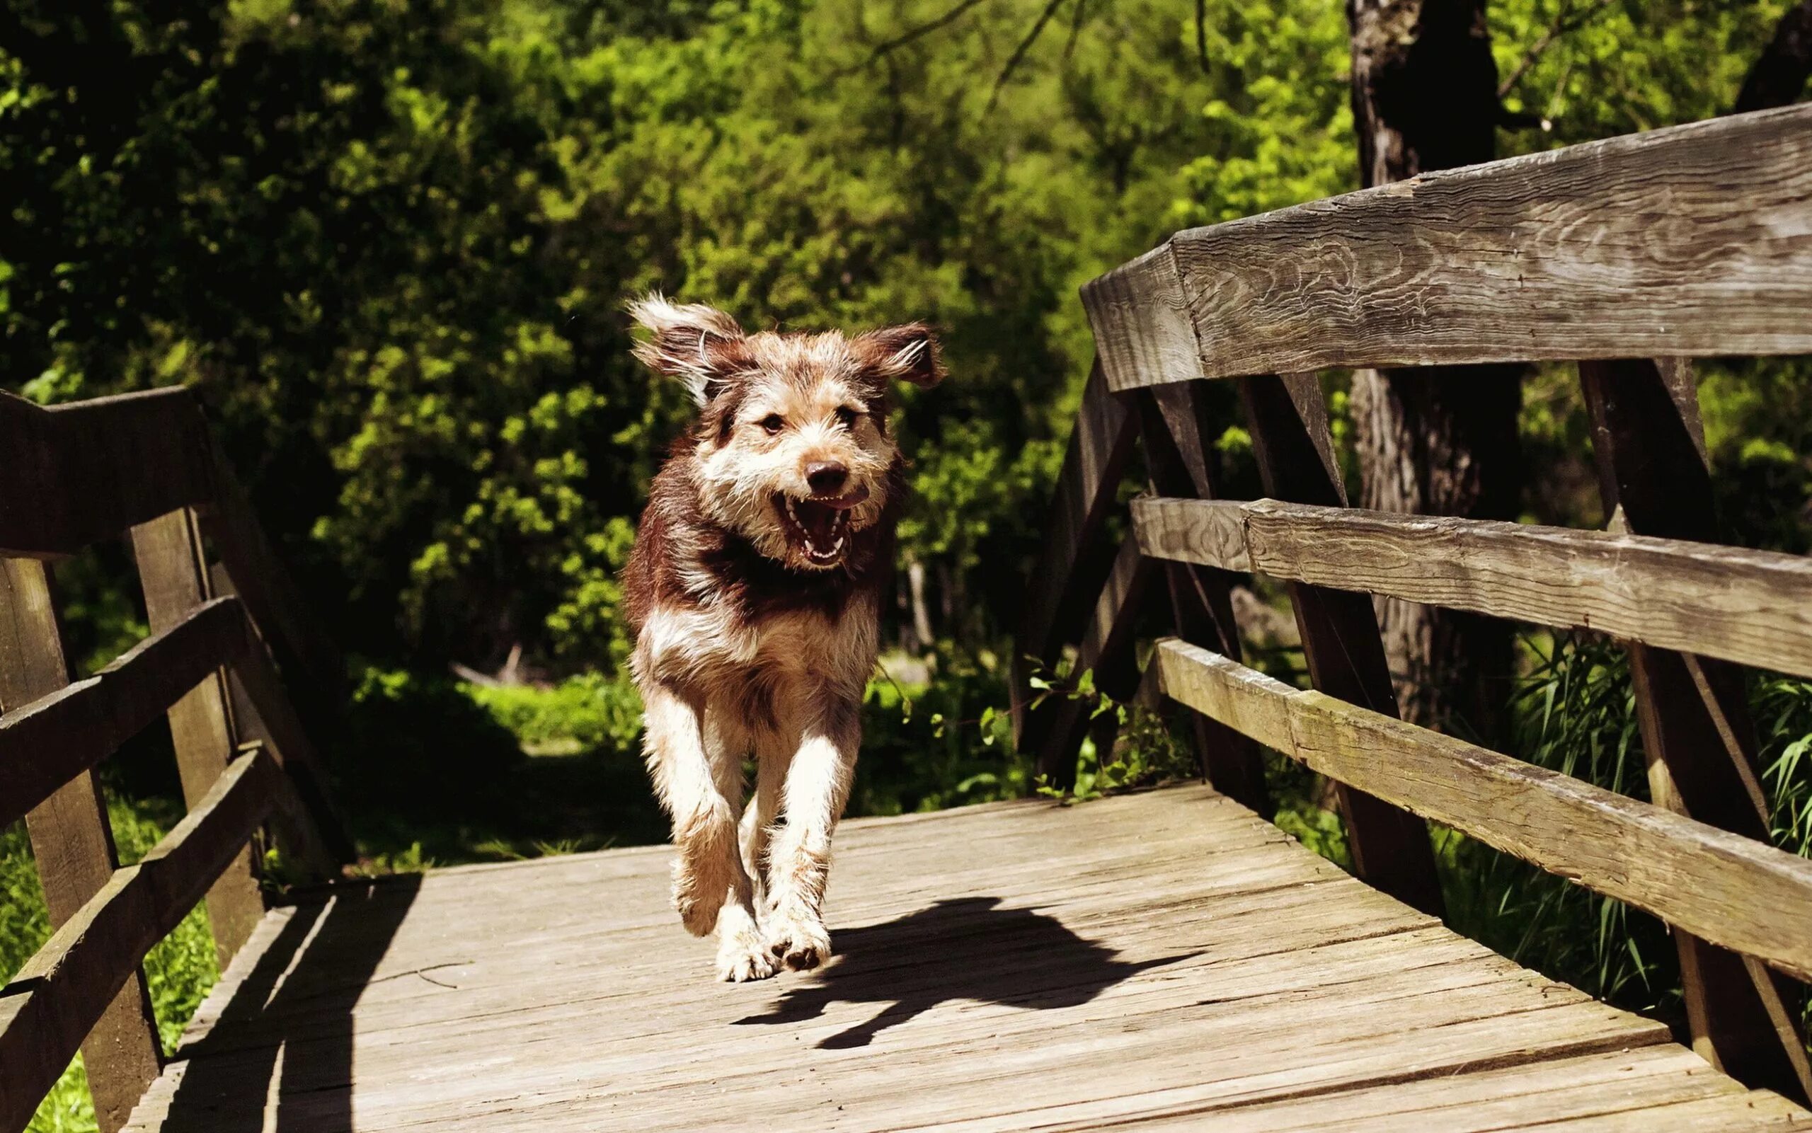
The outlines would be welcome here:
M 1024 683 L 1075 647 L 1111 696 L 1192 709 L 1203 774 L 1259 812 L 1259 745 L 1328 776 L 1355 872 L 1419 908 L 1441 912 L 1433 819 L 1662 917 L 1694 1048 L 1805 1100 L 1812 861 L 1767 843 L 1738 665 L 1812 674 L 1812 562 L 1716 546 L 1682 359 L 1812 353 L 1812 107 L 1178 232 L 1084 305 L 1096 366 L 1017 649 L 1015 734 L 1040 770 L 1075 774 L 1087 714 L 1033 709 Z M 1531 361 L 1578 363 L 1614 531 L 1346 506 L 1314 370 Z M 1214 499 L 1219 379 L 1270 499 Z M 1152 491 L 1116 553 L 1134 439 Z M 1160 571 L 1176 636 L 1142 678 Z M 1252 571 L 1285 584 L 1314 691 L 1241 663 L 1229 587 Z M 1624 642 L 1656 801 L 1401 721 L 1372 595 Z

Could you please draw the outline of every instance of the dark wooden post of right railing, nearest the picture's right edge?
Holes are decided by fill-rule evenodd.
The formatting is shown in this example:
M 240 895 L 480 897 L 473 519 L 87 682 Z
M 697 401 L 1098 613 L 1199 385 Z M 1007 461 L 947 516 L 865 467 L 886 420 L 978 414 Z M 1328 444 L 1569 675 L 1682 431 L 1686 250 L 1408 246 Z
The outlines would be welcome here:
M 1720 542 L 1698 392 L 1683 361 L 1580 363 L 1607 515 L 1636 535 Z M 1654 803 L 1769 841 L 1743 673 L 1712 658 L 1629 647 Z M 1794 984 L 1678 928 L 1692 1050 L 1730 1077 L 1801 1102 L 1812 1093 Z

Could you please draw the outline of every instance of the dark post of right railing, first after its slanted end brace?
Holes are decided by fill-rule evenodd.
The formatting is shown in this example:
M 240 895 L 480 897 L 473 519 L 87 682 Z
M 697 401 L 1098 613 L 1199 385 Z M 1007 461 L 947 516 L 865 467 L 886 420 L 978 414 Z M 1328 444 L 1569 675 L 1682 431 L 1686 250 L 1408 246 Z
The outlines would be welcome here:
M 1136 390 L 1145 471 L 1158 495 L 1214 499 L 1207 460 L 1207 413 L 1201 379 Z M 1185 642 L 1243 660 L 1234 622 L 1232 575 L 1187 562 L 1165 562 L 1176 634 Z M 1265 756 L 1252 740 L 1189 709 L 1190 741 L 1201 774 L 1221 794 L 1270 818 Z

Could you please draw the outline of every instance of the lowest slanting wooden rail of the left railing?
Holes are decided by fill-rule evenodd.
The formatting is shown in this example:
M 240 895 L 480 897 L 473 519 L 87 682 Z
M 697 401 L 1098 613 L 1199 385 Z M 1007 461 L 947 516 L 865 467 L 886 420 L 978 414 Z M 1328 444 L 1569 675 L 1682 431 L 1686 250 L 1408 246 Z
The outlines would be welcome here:
M 194 908 L 272 805 L 274 760 L 236 760 L 138 865 L 116 870 L 0 997 L 0 1128 L 18 1129 L 145 952 Z

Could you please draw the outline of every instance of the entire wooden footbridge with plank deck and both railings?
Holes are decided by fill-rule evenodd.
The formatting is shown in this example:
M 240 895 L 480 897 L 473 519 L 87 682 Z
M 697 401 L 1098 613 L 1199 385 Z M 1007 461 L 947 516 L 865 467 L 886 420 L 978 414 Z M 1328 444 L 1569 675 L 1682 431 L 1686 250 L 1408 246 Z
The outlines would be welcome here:
M 80 1048 L 105 1129 L 1812 1129 L 1812 861 L 1767 843 L 1740 669 L 1812 674 L 1812 564 L 1716 546 L 1680 361 L 1812 353 L 1812 107 L 1181 232 L 1084 301 L 1020 653 L 1181 705 L 1209 785 L 846 823 L 839 957 L 747 986 L 681 935 L 661 848 L 326 881 L 342 669 L 196 401 L 0 399 L 0 821 L 60 925 L 0 995 L 0 1128 Z M 1305 375 L 1511 361 L 1578 363 L 1614 531 L 1346 508 Z M 1270 499 L 1214 499 L 1229 386 Z M 43 562 L 121 535 L 152 636 L 71 683 Z M 1241 665 L 1248 571 L 1312 689 Z M 1625 642 L 1658 803 L 1397 720 L 1368 595 Z M 1062 781 L 1098 721 L 1020 676 Z M 92 770 L 165 712 L 190 812 L 118 868 Z M 1259 818 L 1263 749 L 1339 783 L 1357 877 Z M 1426 821 L 1667 921 L 1689 1033 L 1444 928 Z M 265 830 L 324 881 L 270 910 Z M 230 966 L 163 1059 L 140 964 L 203 896 Z

